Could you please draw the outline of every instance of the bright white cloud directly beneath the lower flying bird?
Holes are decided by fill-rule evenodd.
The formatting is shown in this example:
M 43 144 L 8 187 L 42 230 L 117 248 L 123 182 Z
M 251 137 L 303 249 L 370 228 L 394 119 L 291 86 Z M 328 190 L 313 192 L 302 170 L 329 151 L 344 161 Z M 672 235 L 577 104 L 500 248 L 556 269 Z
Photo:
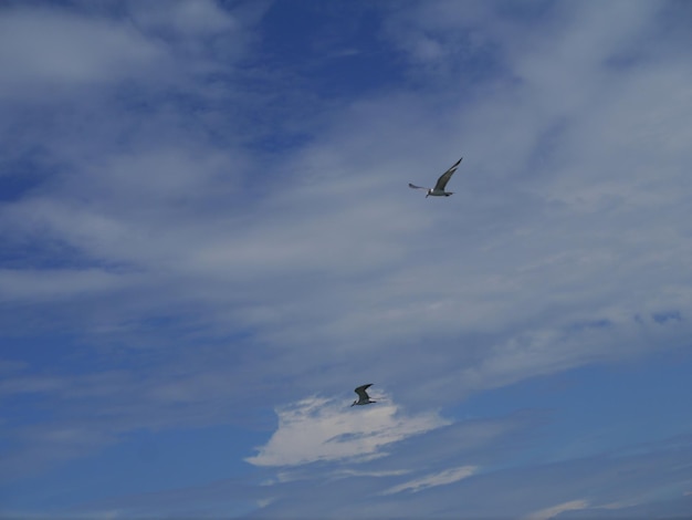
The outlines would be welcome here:
M 364 409 L 319 397 L 279 408 L 276 414 L 276 431 L 256 456 L 245 459 L 248 462 L 294 466 L 319 460 L 369 460 L 382 456 L 387 445 L 449 424 L 433 413 L 406 415 L 391 403 Z

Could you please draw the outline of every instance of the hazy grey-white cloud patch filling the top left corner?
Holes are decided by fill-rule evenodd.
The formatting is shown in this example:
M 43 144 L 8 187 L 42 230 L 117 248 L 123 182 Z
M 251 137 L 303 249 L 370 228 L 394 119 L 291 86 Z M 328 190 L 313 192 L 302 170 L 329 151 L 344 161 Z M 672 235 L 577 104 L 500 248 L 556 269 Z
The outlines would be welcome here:
M 265 9 L 256 2 L 231 12 L 211 0 L 120 3 L 3 9 L 0 98 L 51 106 L 105 96 L 108 87 L 199 93 L 190 77 L 232 72 L 248 53 L 249 25 Z M 114 17 L 118 11 L 126 15 Z

